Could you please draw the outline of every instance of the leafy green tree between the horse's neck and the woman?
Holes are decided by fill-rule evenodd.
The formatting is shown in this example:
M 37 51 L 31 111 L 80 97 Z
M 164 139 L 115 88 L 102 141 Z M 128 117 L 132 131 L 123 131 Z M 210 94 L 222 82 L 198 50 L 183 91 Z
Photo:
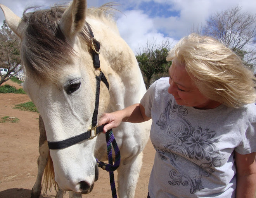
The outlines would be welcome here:
M 153 75 L 163 74 L 163 76 L 167 76 L 171 62 L 167 62 L 166 57 L 170 47 L 171 43 L 168 40 L 159 45 L 156 45 L 156 41 L 154 41 L 153 44 L 147 43 L 147 48 L 137 53 L 136 59 L 140 70 L 144 74 L 147 89 Z

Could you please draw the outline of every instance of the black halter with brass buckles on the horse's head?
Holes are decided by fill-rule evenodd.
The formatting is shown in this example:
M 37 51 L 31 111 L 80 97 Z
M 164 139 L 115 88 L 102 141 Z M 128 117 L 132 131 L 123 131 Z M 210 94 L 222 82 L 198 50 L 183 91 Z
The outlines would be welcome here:
M 99 53 L 100 53 L 100 42 L 97 41 L 94 38 L 93 32 L 89 24 L 86 22 L 89 33 L 91 35 L 91 44 L 92 44 L 92 57 L 93 57 L 93 66 L 97 69 L 100 69 L 100 59 L 99 59 Z M 106 77 L 104 76 L 103 72 L 100 70 L 100 75 L 96 76 L 96 98 L 95 98 L 95 108 L 92 116 L 92 126 L 91 128 L 86 131 L 85 133 L 82 133 L 80 135 L 74 136 L 72 138 L 68 138 L 62 141 L 56 141 L 56 142 L 50 142 L 48 141 L 48 147 L 49 149 L 56 150 L 61 148 L 66 148 L 68 146 L 72 146 L 80 141 L 83 141 L 85 139 L 92 139 L 97 136 L 97 134 L 101 133 L 103 131 L 103 127 L 105 125 L 97 127 L 97 118 L 98 118 L 98 109 L 99 109 L 99 98 L 100 98 L 100 81 L 106 84 L 108 90 L 109 90 L 109 83 L 107 82 Z

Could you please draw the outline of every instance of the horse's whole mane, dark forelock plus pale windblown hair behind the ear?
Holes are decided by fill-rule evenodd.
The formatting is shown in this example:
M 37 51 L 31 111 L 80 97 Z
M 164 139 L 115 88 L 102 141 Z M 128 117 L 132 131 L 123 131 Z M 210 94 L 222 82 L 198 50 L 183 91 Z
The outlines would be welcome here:
M 112 14 L 115 5 L 107 3 L 99 8 L 89 8 L 87 17 L 108 22 L 112 28 L 116 28 L 114 14 Z M 35 11 L 27 12 L 31 9 Z M 63 69 L 61 68 L 63 65 L 72 64 L 71 57 L 75 55 L 74 49 L 58 26 L 66 9 L 66 5 L 54 5 L 50 9 L 29 7 L 24 10 L 22 20 L 26 23 L 26 27 L 21 43 L 21 57 L 23 65 L 26 65 L 27 76 L 54 81 L 59 71 Z M 90 45 L 91 35 L 86 26 L 78 36 Z

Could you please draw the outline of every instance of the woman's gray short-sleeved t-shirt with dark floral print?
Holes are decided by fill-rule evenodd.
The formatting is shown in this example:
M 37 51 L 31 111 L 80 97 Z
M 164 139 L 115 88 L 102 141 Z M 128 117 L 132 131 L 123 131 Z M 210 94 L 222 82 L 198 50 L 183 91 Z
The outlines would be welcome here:
M 199 110 L 178 105 L 169 78 L 153 83 L 141 100 L 152 117 L 156 155 L 150 198 L 235 198 L 234 150 L 256 152 L 256 105 Z

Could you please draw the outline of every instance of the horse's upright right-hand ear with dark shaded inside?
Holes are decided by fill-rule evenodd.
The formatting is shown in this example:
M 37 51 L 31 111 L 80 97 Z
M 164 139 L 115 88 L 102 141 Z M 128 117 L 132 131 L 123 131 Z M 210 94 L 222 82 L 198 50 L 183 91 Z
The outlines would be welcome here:
M 86 0 L 73 0 L 63 13 L 59 27 L 67 38 L 73 38 L 76 33 L 82 31 L 85 26 L 86 9 Z

